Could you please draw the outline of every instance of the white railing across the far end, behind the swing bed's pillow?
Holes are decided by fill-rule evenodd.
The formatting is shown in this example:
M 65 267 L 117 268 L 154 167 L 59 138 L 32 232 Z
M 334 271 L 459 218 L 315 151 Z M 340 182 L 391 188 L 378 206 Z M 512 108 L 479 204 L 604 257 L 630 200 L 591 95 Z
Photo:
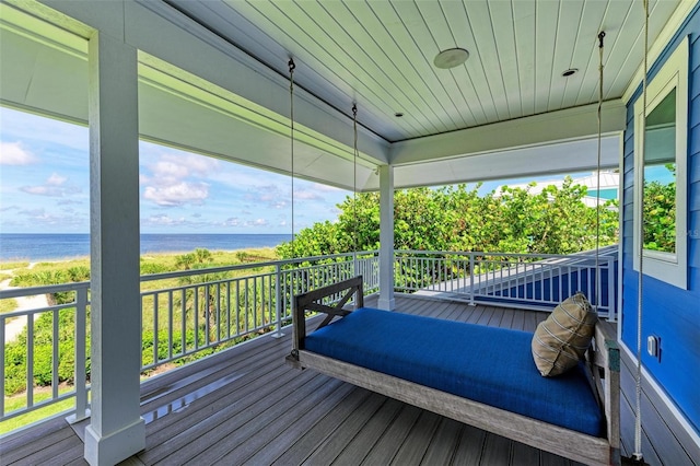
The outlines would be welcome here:
M 503 254 L 396 251 L 395 290 L 551 308 L 582 291 L 600 316 L 617 316 L 617 246 L 591 254 Z M 596 273 L 596 265 L 599 273 Z

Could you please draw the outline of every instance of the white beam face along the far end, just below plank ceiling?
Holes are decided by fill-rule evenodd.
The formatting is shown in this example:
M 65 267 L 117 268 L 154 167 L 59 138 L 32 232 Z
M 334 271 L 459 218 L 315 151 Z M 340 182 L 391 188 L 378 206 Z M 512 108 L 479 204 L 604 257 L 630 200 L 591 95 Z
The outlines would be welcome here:
M 467 128 L 444 135 L 395 142 L 389 151 L 392 165 L 431 160 L 488 154 L 537 147 L 552 141 L 588 139 L 598 133 L 597 104 Z M 622 101 L 608 101 L 602 108 L 602 132 L 625 130 Z M 398 177 L 398 175 L 397 175 Z

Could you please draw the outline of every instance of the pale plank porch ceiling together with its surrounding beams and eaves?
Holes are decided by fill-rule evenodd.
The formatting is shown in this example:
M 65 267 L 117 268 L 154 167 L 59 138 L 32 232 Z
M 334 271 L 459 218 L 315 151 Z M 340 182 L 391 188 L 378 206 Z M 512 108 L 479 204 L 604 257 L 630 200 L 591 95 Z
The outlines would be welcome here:
M 374 167 L 386 163 L 397 187 L 590 170 L 580 155 L 596 152 L 598 31 L 604 165 L 614 166 L 621 98 L 643 57 L 643 9 L 632 0 L 10 3 L 0 22 L 5 105 L 86 121 L 89 28 L 45 3 L 141 50 L 144 138 L 284 173 L 293 57 L 295 175 L 358 190 L 376 189 Z M 688 3 L 651 1 L 650 43 Z M 20 9 L 34 18 L 16 20 Z M 37 27 L 36 16 L 60 27 Z M 469 59 L 436 69 L 435 54 L 451 47 Z M 579 72 L 563 78 L 570 68 Z

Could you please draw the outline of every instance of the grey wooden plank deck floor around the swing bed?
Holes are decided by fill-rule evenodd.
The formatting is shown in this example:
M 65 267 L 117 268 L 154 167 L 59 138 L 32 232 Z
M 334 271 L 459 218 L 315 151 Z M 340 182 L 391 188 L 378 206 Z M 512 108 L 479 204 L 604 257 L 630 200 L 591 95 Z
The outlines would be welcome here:
M 366 305 L 373 305 L 369 300 Z M 546 314 L 397 298 L 406 313 L 534 331 Z M 262 337 L 142 385 L 147 447 L 131 465 L 568 465 L 312 371 Z M 85 422 L 86 423 L 86 422 Z M 83 426 L 57 419 L 0 445 L 0 464 L 83 465 Z

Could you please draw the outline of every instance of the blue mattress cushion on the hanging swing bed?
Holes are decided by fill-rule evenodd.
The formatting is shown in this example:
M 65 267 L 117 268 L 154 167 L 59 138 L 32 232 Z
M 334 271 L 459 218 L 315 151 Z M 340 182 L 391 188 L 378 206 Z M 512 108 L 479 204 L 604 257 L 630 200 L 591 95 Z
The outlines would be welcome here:
M 604 417 L 583 366 L 542 377 L 533 334 L 363 307 L 304 339 L 355 365 L 603 436 Z

